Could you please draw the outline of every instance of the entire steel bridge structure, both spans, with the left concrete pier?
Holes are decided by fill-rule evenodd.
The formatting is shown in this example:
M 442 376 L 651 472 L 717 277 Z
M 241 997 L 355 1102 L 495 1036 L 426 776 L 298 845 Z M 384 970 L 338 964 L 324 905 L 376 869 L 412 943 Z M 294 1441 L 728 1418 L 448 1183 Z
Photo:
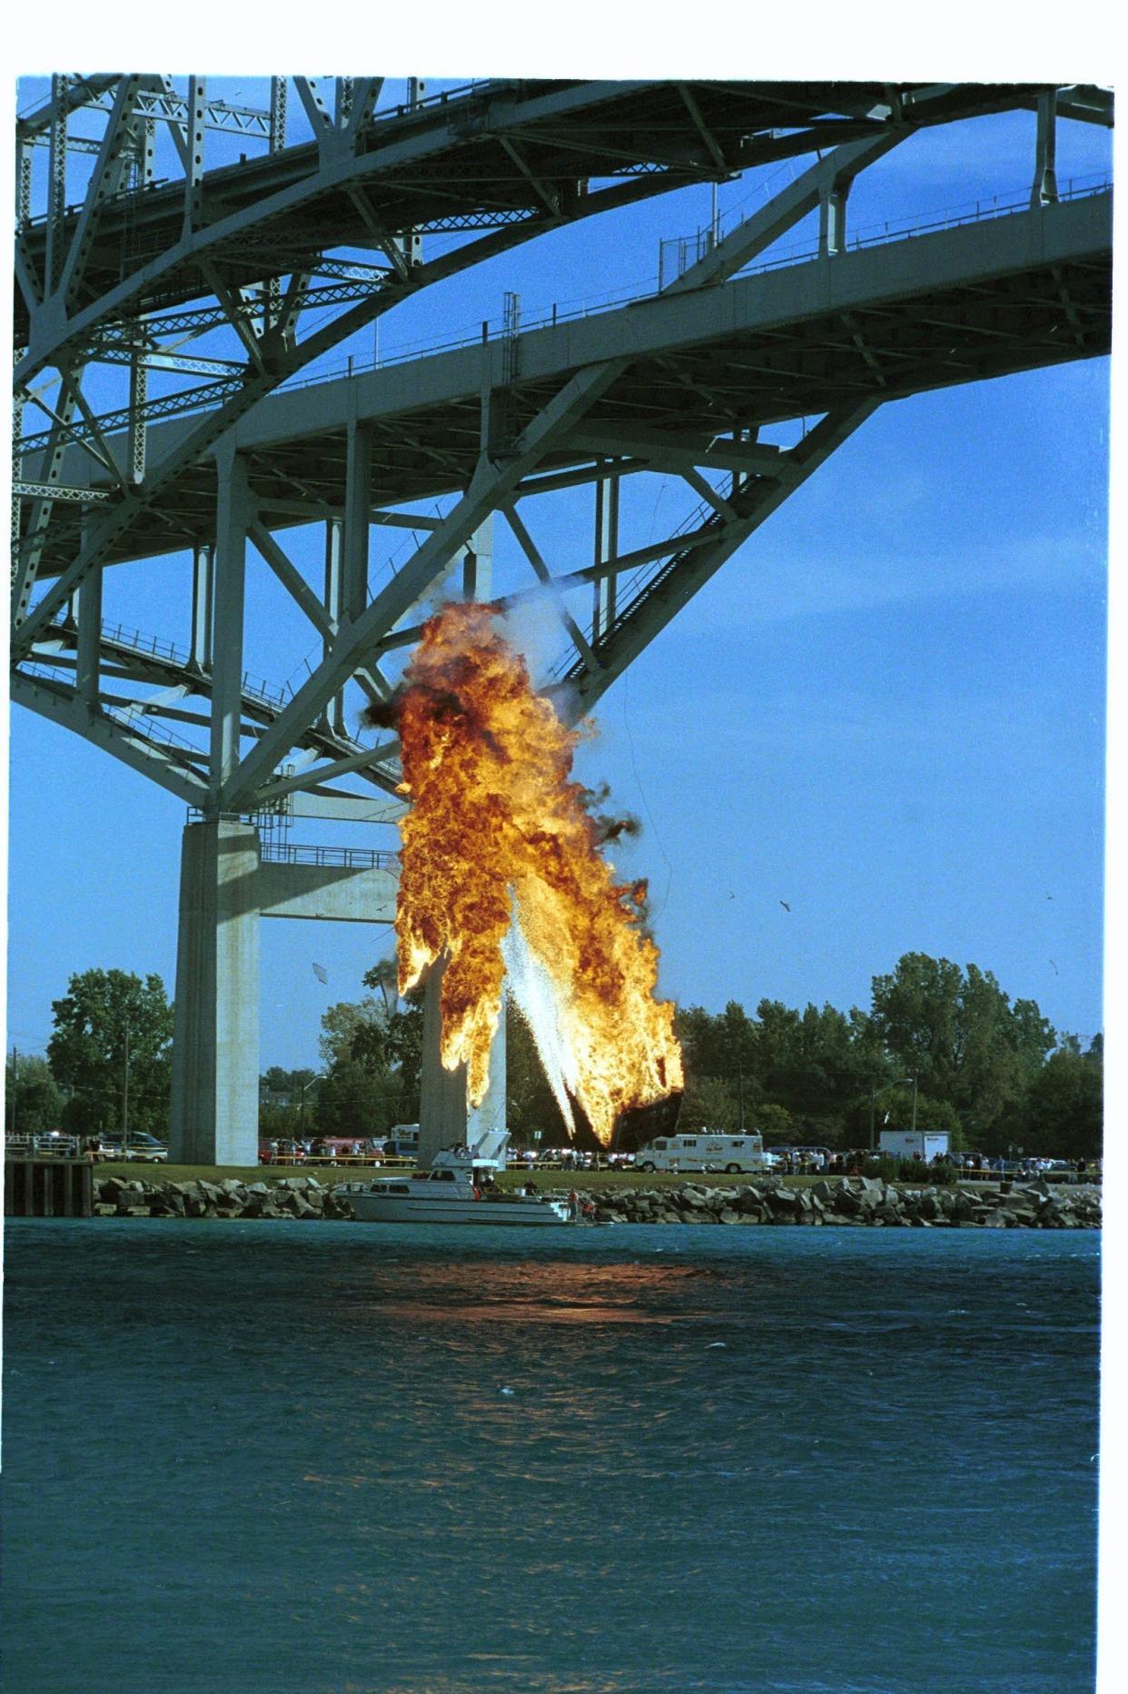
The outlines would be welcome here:
M 217 1060 L 224 1018 L 251 1045 L 251 977 L 202 938 L 222 928 L 224 852 L 266 815 L 398 815 L 396 747 L 362 745 L 349 703 L 386 698 L 454 564 L 459 591 L 491 595 L 495 517 L 556 606 L 542 681 L 579 717 L 882 403 L 1109 347 L 1111 186 L 1055 171 L 1062 117 L 1111 125 L 1101 90 L 500 81 L 381 100 L 373 78 L 274 78 L 256 110 L 200 78 L 56 76 L 17 124 L 12 695 L 212 832 L 191 847 L 176 991 L 174 1133 L 188 1147 L 188 1120 L 203 1125 L 196 1157 L 254 1145 L 257 1038 L 249 1064 Z M 310 130 L 293 146 L 288 102 L 290 130 L 295 102 Z M 852 186 L 891 149 L 1011 108 L 1037 112 L 1021 202 L 874 241 L 847 227 Z M 259 156 L 208 168 L 205 142 Z M 789 186 L 647 296 L 523 327 L 511 300 L 479 342 L 301 381 L 430 283 L 777 159 Z M 589 227 L 598 242 L 606 220 Z M 796 230 L 806 247 L 781 257 Z M 786 446 L 764 439 L 779 425 Z M 640 476 L 686 491 L 644 545 L 620 505 Z M 591 564 L 561 569 L 532 512 L 583 486 Z M 291 556 L 312 523 L 323 588 Z M 378 584 L 381 527 L 423 540 Z M 247 544 L 322 645 L 293 695 L 244 669 Z M 103 622 L 107 571 L 174 554 L 193 574 L 180 639 Z

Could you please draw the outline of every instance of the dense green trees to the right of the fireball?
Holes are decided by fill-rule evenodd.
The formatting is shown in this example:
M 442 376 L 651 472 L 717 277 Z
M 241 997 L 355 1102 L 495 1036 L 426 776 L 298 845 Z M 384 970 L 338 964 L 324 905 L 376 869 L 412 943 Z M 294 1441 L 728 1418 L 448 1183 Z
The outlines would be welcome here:
M 1003 993 L 991 971 L 904 954 L 872 979 L 869 1011 L 762 999 L 755 1016 L 677 1015 L 688 1088 L 681 1121 L 769 1142 L 867 1147 L 884 1127 L 947 1130 L 954 1149 L 1096 1157 L 1103 1038 L 1082 1052 L 1037 1001 Z

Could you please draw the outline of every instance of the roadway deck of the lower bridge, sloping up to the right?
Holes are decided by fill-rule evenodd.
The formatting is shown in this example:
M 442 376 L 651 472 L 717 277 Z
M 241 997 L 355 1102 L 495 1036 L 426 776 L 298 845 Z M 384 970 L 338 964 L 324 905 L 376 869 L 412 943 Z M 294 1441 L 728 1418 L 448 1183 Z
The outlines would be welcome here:
M 513 403 L 525 424 L 578 369 L 630 356 L 583 432 L 542 461 L 539 471 L 552 471 L 589 462 L 583 442 L 601 427 L 628 425 L 625 440 L 645 430 L 672 446 L 699 442 L 865 396 L 1091 357 L 1109 342 L 1111 193 L 1099 191 L 528 330 L 518 337 Z M 462 491 L 479 451 L 483 359 L 498 383 L 503 351 L 493 342 L 486 354 L 439 352 L 266 400 L 235 430 L 264 523 L 285 529 L 340 508 L 351 418 L 373 425 L 376 505 Z M 188 427 L 181 418 L 156 427 L 152 462 Z M 124 437 L 117 447 L 124 459 Z M 213 464 L 190 466 L 159 507 L 139 512 L 112 559 L 210 540 L 213 501 Z M 41 574 L 63 569 L 73 545 L 59 522 Z

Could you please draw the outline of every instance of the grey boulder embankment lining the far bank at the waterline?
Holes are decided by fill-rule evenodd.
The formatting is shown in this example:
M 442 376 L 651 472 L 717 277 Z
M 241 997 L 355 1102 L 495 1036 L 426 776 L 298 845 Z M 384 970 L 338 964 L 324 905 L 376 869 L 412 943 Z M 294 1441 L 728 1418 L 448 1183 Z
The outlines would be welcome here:
M 544 1191 L 566 1199 L 569 1187 Z M 837 1228 L 1037 1228 L 1099 1230 L 1101 1189 L 1091 1184 L 977 1182 L 952 1187 L 898 1187 L 879 1177 L 828 1177 L 810 1187 L 777 1179 L 740 1186 L 576 1189 L 584 1223 L 727 1223 Z M 352 1218 L 339 1186 L 313 1176 L 281 1182 L 227 1179 L 191 1182 L 154 1179 L 95 1181 L 95 1216 L 102 1218 Z

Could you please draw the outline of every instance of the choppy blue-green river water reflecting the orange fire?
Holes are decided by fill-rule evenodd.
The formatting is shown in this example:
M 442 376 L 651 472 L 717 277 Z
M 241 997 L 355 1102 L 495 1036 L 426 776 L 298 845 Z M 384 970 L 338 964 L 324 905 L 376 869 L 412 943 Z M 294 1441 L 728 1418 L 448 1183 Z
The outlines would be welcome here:
M 10 1223 L 5 1686 L 1082 1694 L 1098 1242 Z

